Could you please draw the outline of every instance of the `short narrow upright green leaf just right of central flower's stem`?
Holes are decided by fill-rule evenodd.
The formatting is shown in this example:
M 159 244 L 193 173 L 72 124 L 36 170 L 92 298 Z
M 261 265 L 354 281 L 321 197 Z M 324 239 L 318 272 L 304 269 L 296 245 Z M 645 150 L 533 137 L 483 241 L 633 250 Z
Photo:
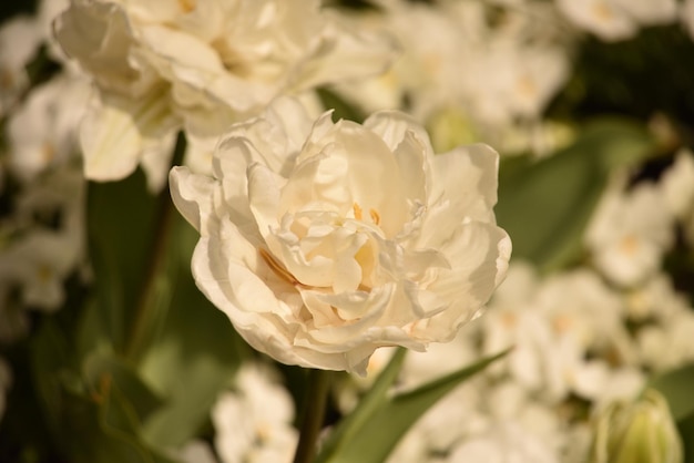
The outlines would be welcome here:
M 386 400 L 386 394 L 395 380 L 398 378 L 402 361 L 405 360 L 406 349 L 398 349 L 388 362 L 388 366 L 380 372 L 368 393 L 361 398 L 355 410 L 345 416 L 337 428 L 330 433 L 324 443 L 320 453 L 316 456 L 316 463 L 331 461 L 336 453 L 339 453 L 344 446 L 355 442 L 355 436 L 369 420 L 378 413 L 379 408 Z

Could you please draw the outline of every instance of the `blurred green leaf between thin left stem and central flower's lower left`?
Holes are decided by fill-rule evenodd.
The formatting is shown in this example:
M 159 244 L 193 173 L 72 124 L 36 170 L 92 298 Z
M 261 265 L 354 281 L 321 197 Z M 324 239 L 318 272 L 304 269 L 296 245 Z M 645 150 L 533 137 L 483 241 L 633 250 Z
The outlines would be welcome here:
M 162 326 L 153 328 L 139 367 L 146 383 L 165 400 L 144 426 L 144 439 L 160 447 L 183 444 L 197 433 L 247 349 L 191 276 L 197 233 L 177 214 L 173 227 L 171 246 L 177 251 L 171 264 L 175 268 L 169 282 L 171 303 Z

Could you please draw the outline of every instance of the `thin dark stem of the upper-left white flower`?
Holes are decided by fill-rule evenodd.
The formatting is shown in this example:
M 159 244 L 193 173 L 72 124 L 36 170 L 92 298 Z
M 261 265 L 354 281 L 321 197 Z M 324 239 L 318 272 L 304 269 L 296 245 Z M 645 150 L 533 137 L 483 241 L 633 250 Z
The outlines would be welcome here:
M 172 165 L 181 164 L 185 152 L 185 137 L 178 134 Z M 166 269 L 171 266 L 171 239 L 175 224 L 175 207 L 171 200 L 169 187 L 160 193 L 157 198 L 157 217 L 153 234 L 152 255 L 150 267 L 145 275 L 145 282 L 140 294 L 137 311 L 132 323 L 130 338 L 125 348 L 125 358 L 137 362 L 142 352 L 146 349 L 149 340 L 159 331 L 156 328 L 166 317 L 171 305 L 171 288 Z

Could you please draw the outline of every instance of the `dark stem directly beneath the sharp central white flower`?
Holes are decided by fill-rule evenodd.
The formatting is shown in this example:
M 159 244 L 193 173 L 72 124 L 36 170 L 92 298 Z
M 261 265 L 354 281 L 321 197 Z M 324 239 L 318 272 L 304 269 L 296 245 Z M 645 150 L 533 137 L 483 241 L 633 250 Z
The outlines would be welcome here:
M 329 383 L 330 371 L 309 370 L 308 388 L 304 399 L 304 416 L 294 463 L 310 463 L 316 456 L 318 434 L 325 420 Z

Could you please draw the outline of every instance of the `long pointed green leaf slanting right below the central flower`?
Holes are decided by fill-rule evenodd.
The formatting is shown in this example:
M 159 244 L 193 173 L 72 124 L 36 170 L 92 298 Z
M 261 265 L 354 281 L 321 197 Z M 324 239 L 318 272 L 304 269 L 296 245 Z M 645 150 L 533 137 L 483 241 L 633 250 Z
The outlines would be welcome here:
M 380 400 L 378 402 L 374 400 L 359 420 L 351 424 L 349 433 L 340 435 L 339 442 L 335 444 L 329 446 L 326 444 L 317 462 L 380 463 L 386 461 L 410 426 L 439 399 L 497 359 L 506 356 L 507 352 L 487 357 L 414 391 L 390 398 L 380 395 Z M 388 372 L 388 374 L 391 373 Z M 378 392 L 378 394 L 381 393 L 381 391 Z

